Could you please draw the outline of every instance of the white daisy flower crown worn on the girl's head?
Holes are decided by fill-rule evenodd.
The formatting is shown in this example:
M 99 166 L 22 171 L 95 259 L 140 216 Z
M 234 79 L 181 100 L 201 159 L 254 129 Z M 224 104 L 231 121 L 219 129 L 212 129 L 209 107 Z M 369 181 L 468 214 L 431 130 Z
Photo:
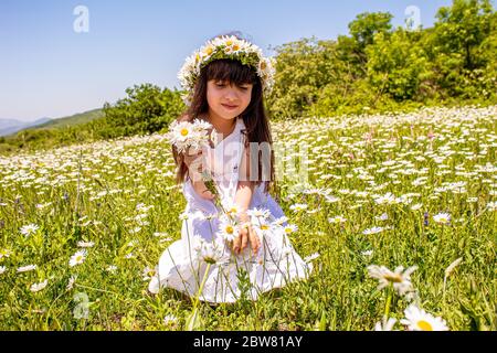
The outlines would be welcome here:
M 234 35 L 223 35 L 208 41 L 192 55 L 188 56 L 178 78 L 187 94 L 183 99 L 187 104 L 191 103 L 193 89 L 197 79 L 200 76 L 202 67 L 207 66 L 214 60 L 231 58 L 241 62 L 243 65 L 251 66 L 261 78 L 263 92 L 268 94 L 274 85 L 275 60 L 273 57 L 264 57 L 262 50 Z

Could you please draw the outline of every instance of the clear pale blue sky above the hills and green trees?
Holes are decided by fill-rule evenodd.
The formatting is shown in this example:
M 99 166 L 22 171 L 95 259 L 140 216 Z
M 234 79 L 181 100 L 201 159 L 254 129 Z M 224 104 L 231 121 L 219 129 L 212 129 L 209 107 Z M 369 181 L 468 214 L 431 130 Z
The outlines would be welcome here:
M 241 31 L 266 55 L 302 38 L 336 39 L 361 12 L 389 11 L 423 28 L 451 0 L 1 0 L 0 118 L 59 118 L 101 108 L 135 84 L 180 87 L 184 58 L 216 34 Z M 88 31 L 74 31 L 77 6 Z

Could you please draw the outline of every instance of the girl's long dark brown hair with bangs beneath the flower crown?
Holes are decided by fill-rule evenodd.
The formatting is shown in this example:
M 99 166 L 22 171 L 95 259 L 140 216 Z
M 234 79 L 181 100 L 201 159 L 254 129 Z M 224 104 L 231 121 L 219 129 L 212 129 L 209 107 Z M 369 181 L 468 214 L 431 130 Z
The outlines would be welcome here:
M 267 193 L 269 188 L 276 189 L 275 171 L 274 171 L 274 151 L 273 151 L 273 138 L 269 129 L 268 118 L 264 109 L 264 96 L 261 79 L 251 66 L 243 65 L 236 60 L 215 60 L 202 67 L 200 76 L 197 81 L 193 97 L 190 107 L 183 113 L 177 120 L 178 121 L 193 121 L 197 117 L 203 116 L 209 111 L 209 104 L 207 99 L 208 82 L 211 79 L 228 82 L 236 86 L 243 84 L 252 84 L 251 103 L 246 109 L 239 116 L 245 124 L 245 129 L 242 133 L 245 135 L 245 147 L 248 147 L 251 142 L 263 143 L 266 142 L 271 147 L 271 165 L 268 175 L 263 180 L 263 165 L 262 158 L 260 156 L 251 156 L 251 162 L 258 163 L 258 175 L 255 181 L 256 185 L 262 182 L 265 183 L 264 192 Z M 257 154 L 260 154 L 258 152 Z M 178 165 L 177 182 L 182 183 L 186 175 L 188 175 L 188 168 L 184 164 L 183 153 L 178 153 L 175 147 L 172 147 L 172 154 Z M 268 180 L 267 180 L 268 179 Z

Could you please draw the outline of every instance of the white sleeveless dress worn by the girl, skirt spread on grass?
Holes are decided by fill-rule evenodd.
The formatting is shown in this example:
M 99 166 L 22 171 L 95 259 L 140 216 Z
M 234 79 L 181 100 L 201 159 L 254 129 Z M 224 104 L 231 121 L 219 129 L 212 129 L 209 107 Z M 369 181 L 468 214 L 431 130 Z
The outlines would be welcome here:
M 234 203 L 244 128 L 243 119 L 237 118 L 232 133 L 214 149 L 204 150 L 224 205 Z M 307 278 L 313 270 L 311 264 L 304 261 L 292 246 L 284 231 L 287 223 L 277 222 L 284 213 L 264 193 L 263 183 L 254 189 L 248 206 L 265 212 L 262 217 L 252 215 L 254 231 L 261 239 L 256 255 L 250 245 L 240 255 L 232 253 L 221 236 L 218 208 L 193 190 L 189 179 L 183 183 L 183 195 L 187 207 L 181 239 L 160 256 L 156 276 L 149 282 L 150 292 L 158 293 L 160 288 L 168 287 L 213 303 L 234 302 L 241 297 L 255 300 L 262 292 Z M 256 226 L 262 224 L 265 226 Z

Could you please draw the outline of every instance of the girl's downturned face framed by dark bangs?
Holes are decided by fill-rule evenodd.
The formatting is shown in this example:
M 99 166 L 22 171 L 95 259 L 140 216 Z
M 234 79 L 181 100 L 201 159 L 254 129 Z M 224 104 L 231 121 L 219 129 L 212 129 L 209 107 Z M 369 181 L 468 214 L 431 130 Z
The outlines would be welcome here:
M 225 120 L 236 118 L 251 103 L 252 86 L 252 84 L 236 86 L 210 79 L 207 88 L 209 116 Z

